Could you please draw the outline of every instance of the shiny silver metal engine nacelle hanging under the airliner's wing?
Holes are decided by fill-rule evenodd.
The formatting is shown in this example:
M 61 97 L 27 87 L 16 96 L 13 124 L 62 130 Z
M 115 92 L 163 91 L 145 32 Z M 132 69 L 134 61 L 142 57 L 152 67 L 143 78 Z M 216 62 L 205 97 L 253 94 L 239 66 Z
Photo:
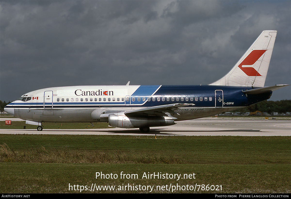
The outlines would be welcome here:
M 171 126 L 176 124 L 175 117 L 127 117 L 125 115 L 110 114 L 109 125 L 118 128 L 140 128 L 153 126 Z

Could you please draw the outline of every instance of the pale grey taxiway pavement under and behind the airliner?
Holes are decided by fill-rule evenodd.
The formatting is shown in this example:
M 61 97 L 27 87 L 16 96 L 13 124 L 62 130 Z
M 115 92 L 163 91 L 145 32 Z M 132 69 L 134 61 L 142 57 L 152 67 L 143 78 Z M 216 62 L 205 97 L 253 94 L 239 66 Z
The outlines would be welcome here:
M 151 127 L 149 133 L 139 129 L 1 129 L 3 134 L 79 134 L 79 135 L 232 135 L 232 136 L 290 136 L 290 119 L 249 119 L 208 117 L 177 121 L 173 126 Z

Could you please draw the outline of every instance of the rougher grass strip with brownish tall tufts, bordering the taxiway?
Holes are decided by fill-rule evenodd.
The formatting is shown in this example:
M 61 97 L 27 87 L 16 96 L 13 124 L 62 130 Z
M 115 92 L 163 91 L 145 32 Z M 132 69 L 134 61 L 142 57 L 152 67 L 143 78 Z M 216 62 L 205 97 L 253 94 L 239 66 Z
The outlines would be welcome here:
M 10 148 L 9 157 L 15 162 L 289 164 L 291 160 L 290 137 L 281 136 L 158 136 L 155 139 L 129 135 L 1 134 L 0 138 L 0 143 Z M 1 154 L 1 161 L 4 155 Z

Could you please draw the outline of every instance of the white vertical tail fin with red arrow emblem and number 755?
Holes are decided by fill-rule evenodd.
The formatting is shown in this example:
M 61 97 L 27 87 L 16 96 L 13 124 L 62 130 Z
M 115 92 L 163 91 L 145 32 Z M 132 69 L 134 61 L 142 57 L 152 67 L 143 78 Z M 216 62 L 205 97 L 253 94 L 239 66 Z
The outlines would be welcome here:
M 264 87 L 276 34 L 263 31 L 231 71 L 210 85 Z

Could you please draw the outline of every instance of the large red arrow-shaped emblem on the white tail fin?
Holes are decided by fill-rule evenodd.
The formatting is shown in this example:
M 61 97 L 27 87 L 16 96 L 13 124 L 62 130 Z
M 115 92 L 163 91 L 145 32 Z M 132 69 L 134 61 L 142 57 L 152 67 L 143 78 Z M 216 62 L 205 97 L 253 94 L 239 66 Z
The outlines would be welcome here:
M 238 65 L 248 76 L 262 76 L 253 67 L 242 67 L 243 65 L 253 65 L 266 52 L 266 50 L 253 50 L 245 59 Z

